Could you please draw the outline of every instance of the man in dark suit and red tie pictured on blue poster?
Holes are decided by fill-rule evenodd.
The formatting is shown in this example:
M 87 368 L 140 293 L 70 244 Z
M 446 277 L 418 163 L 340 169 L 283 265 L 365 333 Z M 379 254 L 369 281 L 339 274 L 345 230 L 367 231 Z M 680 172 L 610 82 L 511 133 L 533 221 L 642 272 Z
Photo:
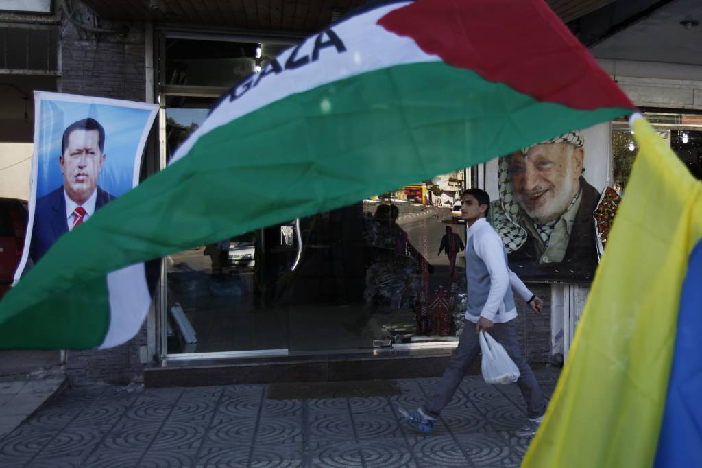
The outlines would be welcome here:
M 61 235 L 80 226 L 114 198 L 98 186 L 105 162 L 105 129 L 95 119 L 81 119 L 63 132 L 58 164 L 62 186 L 39 197 L 29 256 L 36 263 Z

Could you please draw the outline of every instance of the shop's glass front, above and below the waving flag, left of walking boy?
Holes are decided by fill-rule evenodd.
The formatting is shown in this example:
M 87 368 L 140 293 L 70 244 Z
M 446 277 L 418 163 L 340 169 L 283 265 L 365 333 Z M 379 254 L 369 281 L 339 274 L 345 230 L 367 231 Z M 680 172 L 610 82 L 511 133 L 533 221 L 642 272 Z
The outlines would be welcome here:
M 228 86 L 286 47 L 167 32 L 158 44 L 161 167 Z M 464 278 L 465 229 L 451 207 L 464 187 L 465 171 L 456 171 L 169 255 L 159 301 L 161 356 L 455 346 L 465 302 L 456 287 Z M 444 239 L 450 254 L 446 242 L 439 254 Z

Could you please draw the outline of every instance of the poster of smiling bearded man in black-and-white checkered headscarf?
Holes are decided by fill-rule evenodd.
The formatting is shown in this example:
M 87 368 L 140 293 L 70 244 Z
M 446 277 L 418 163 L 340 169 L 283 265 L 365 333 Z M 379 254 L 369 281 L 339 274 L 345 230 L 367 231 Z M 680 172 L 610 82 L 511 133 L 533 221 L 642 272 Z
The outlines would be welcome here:
M 517 275 L 590 280 L 595 273 L 593 213 L 606 182 L 608 151 L 597 138 L 602 129 L 588 130 L 594 138 L 587 145 L 588 132 L 571 131 L 498 161 L 499 200 L 492 202 L 491 222 Z M 585 167 L 592 168 L 587 176 Z

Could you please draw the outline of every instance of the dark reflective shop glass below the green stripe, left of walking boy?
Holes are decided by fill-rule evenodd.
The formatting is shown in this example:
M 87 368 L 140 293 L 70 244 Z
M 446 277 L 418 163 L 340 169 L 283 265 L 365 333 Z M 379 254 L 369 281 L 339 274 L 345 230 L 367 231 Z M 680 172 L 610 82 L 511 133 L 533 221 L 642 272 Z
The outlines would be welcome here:
M 168 353 L 456 341 L 462 183 L 416 184 L 169 256 Z

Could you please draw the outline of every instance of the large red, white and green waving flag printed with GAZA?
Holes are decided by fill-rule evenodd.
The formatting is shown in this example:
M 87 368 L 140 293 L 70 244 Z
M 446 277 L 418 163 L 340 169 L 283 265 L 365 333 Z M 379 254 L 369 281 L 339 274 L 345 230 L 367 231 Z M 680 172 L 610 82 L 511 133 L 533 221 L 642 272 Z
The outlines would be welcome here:
M 234 86 L 166 170 L 60 238 L 0 303 L 0 346 L 116 346 L 150 306 L 142 261 L 634 109 L 542 0 L 368 6 Z

